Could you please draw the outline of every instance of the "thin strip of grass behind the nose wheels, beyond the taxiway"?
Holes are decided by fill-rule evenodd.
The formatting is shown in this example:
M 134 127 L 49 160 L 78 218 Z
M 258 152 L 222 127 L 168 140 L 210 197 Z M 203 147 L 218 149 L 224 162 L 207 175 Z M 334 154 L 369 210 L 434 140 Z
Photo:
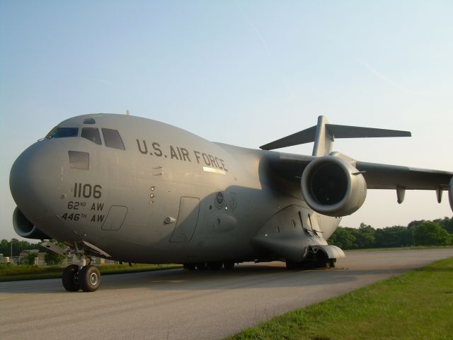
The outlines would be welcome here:
M 136 263 L 130 267 L 127 264 L 101 264 L 97 265 L 102 275 L 138 273 L 140 271 L 159 271 L 163 269 L 182 268 L 179 264 L 164 264 L 159 267 L 157 264 Z M 39 280 L 44 278 L 61 278 L 64 271 L 62 266 L 8 266 L 0 265 L 0 282 L 18 280 Z

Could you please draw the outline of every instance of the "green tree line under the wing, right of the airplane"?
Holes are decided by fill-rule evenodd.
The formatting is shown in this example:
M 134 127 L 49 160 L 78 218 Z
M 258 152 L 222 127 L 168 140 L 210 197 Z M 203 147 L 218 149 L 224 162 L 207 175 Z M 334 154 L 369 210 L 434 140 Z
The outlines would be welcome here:
M 382 229 L 374 229 L 365 223 L 361 223 L 358 229 L 338 227 L 328 243 L 345 250 L 453 245 L 453 217 L 412 221 L 407 226 L 394 225 Z

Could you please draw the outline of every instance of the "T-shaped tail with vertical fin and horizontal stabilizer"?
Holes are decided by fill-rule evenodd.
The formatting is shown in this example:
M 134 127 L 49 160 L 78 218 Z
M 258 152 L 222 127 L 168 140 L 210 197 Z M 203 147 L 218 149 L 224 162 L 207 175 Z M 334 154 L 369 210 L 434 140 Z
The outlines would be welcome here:
M 313 156 L 324 156 L 331 152 L 335 138 L 369 137 L 411 137 L 411 132 L 328 124 L 327 118 L 320 115 L 318 125 L 262 145 L 260 149 L 273 150 L 314 142 Z

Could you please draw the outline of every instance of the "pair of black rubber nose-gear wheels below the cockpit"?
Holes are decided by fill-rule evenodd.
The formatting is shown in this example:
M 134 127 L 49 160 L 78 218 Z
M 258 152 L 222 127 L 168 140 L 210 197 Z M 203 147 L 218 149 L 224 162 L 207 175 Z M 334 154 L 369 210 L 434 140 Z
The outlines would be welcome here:
M 94 292 L 101 284 L 101 273 L 95 266 L 85 265 L 85 259 L 81 259 L 81 265 L 71 264 L 63 271 L 63 287 L 69 292 Z

